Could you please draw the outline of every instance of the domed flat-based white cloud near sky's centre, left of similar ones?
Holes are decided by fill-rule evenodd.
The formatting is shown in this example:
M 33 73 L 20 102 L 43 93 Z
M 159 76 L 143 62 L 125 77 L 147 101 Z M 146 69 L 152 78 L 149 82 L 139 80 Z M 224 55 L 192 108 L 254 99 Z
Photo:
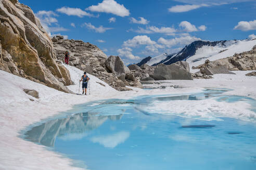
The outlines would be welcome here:
M 155 45 L 156 42 L 152 41 L 150 37 L 146 35 L 137 35 L 133 39 L 129 39 L 123 42 L 125 47 L 136 47 L 138 45 Z

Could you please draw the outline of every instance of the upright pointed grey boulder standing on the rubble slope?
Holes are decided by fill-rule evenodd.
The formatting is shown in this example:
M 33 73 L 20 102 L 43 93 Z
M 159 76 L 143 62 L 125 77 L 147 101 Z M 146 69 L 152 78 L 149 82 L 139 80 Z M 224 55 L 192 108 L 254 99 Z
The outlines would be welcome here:
M 114 73 L 120 80 L 125 80 L 125 74 L 130 73 L 130 69 L 126 67 L 119 56 L 109 56 L 105 62 L 111 73 Z

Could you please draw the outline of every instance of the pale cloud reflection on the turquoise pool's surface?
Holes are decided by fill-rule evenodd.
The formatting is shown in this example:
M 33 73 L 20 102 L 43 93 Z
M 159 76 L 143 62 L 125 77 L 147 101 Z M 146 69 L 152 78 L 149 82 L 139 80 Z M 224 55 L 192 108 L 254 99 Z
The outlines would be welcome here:
M 114 148 L 130 137 L 130 132 L 118 132 L 107 136 L 95 136 L 91 138 L 93 143 L 99 143 L 106 148 Z

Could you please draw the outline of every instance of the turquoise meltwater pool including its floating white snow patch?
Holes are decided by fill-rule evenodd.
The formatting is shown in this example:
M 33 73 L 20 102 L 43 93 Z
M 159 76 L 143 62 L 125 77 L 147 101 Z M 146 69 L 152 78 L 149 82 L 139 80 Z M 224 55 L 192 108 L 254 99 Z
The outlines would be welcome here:
M 80 104 L 24 138 L 96 170 L 253 169 L 256 102 L 224 92 Z

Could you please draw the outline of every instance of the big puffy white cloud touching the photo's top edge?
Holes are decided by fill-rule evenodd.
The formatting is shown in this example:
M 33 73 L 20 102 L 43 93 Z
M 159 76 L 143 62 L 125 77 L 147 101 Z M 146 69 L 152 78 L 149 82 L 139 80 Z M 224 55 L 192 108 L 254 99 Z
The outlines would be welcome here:
M 130 15 L 129 10 L 126 9 L 124 5 L 120 5 L 114 0 L 104 0 L 101 3 L 98 3 L 98 5 L 92 5 L 87 9 L 92 12 L 112 13 L 113 15 L 120 17 L 126 17 Z

